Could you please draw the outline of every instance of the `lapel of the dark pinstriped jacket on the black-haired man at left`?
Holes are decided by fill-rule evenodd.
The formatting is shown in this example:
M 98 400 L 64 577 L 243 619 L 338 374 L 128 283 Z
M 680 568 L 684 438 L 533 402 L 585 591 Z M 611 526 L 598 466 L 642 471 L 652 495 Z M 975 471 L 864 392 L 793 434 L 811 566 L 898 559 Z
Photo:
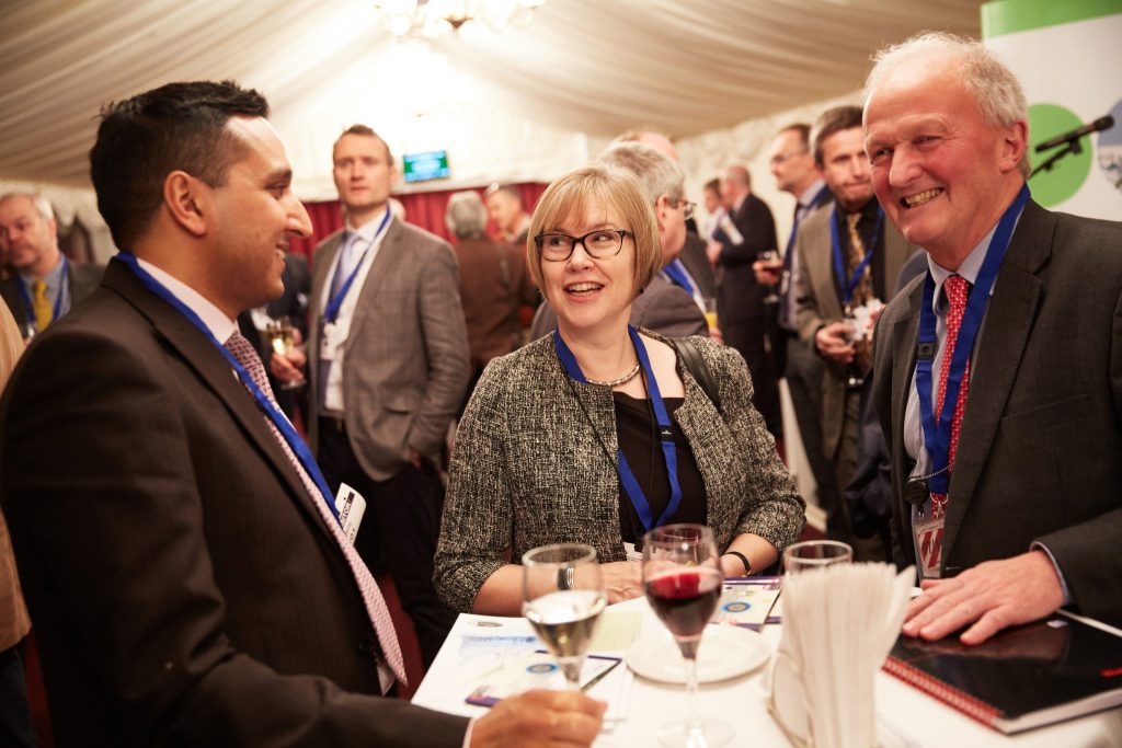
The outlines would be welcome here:
M 178 357 L 194 369 L 202 384 L 218 396 L 249 441 L 287 484 L 288 492 L 296 497 L 297 502 L 312 516 L 313 523 L 330 537 L 319 510 L 311 504 L 313 497 L 309 496 L 296 469 L 265 423 L 265 416 L 233 375 L 226 357 L 185 316 L 144 288 L 120 262 L 110 262 L 103 285 L 128 299 L 148 318 L 167 344 L 175 349 Z

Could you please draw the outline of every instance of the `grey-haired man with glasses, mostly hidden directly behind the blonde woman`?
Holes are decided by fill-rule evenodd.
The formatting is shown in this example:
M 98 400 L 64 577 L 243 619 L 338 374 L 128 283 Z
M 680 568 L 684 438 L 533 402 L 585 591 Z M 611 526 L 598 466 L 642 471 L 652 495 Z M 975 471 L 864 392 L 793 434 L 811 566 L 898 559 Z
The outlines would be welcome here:
M 696 298 L 698 285 L 681 264 L 675 265 L 686 241 L 686 220 L 693 203 L 686 200 L 681 167 L 651 146 L 626 141 L 609 147 L 597 159 L 629 172 L 654 206 L 662 242 L 662 271 L 632 304 L 631 323 L 669 338 L 708 335 L 703 303 Z M 557 326 L 557 315 L 542 303 L 534 315 L 530 336 L 536 340 Z

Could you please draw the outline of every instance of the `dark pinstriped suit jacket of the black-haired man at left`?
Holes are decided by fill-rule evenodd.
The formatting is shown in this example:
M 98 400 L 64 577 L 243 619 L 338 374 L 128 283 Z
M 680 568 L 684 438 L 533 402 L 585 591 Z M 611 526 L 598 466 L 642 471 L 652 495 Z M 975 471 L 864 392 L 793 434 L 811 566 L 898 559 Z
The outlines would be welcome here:
M 155 330 L 67 322 L 0 406 L 0 495 L 59 744 L 459 746 L 466 720 L 325 675 L 371 682 L 335 636 L 369 622 L 272 445 L 215 396 L 240 387 L 218 351 L 188 361 Z

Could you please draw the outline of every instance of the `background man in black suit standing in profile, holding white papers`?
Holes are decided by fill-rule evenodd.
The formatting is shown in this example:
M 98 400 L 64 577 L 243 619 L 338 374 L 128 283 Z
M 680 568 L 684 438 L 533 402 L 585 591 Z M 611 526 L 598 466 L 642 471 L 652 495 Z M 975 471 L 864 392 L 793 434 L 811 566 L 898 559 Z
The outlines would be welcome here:
M 752 194 L 748 170 L 729 166 L 720 181 L 721 198 L 732 227 L 721 224 L 709 242 L 709 261 L 717 268 L 717 310 L 725 343 L 741 352 L 755 387 L 753 404 L 767 423 L 767 431 L 783 431 L 779 387 L 771 353 L 764 342 L 774 307 L 764 303 L 769 290 L 752 271 L 764 251 L 776 251 L 775 220 L 764 201 Z

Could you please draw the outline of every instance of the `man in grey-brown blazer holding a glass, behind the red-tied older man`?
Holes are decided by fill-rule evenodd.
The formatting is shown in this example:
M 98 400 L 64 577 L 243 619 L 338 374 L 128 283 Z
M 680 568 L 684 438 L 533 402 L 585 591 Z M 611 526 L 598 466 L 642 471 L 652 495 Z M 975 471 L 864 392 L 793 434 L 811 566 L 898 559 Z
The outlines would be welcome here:
M 799 229 L 795 252 L 800 273 L 795 287 L 795 327 L 800 339 L 821 357 L 819 423 L 822 453 L 834 463 L 837 486 L 844 488 L 857 464 L 861 391 L 872 364 L 871 334 L 852 340 L 853 321 L 846 306 L 857 307 L 891 298 L 900 268 L 913 251 L 891 225 L 885 225 L 873 195 L 861 130 L 859 107 L 836 107 L 815 123 L 815 161 L 834 193 L 831 209 L 811 213 Z M 850 219 L 867 252 L 852 251 Z M 843 276 L 838 277 L 837 262 Z M 865 262 L 862 266 L 862 262 Z M 863 269 L 862 269 L 863 268 Z M 854 280 L 854 278 L 857 278 Z M 864 290 L 864 295 L 858 296 Z M 864 345 L 865 355 L 858 355 Z M 820 497 L 831 536 L 853 542 L 845 505 L 837 491 Z M 825 501 L 829 499 L 829 501 Z M 885 560 L 888 548 L 858 544 L 858 555 Z

